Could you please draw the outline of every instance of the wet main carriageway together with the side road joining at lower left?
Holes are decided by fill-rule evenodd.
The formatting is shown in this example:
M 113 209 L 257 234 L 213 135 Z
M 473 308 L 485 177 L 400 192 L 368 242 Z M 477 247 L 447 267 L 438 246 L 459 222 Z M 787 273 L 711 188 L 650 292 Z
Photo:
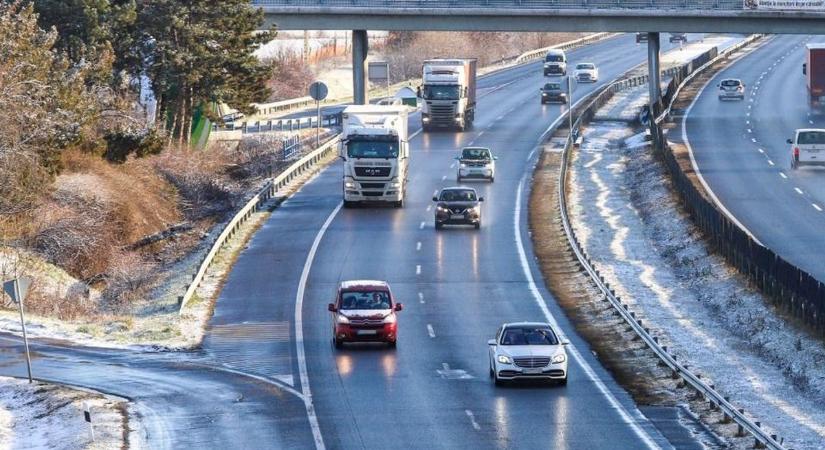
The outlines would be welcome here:
M 645 56 L 632 35 L 569 52 L 573 64 L 600 67 L 599 85 Z M 238 257 L 202 349 L 38 342 L 36 376 L 133 399 L 150 448 L 670 448 L 576 335 L 535 266 L 530 172 L 564 110 L 539 104 L 544 81 L 540 63 L 484 77 L 472 130 L 417 133 L 403 209 L 341 209 L 341 165 L 322 171 Z M 412 123 L 420 127 L 417 115 Z M 487 199 L 484 223 L 436 232 L 429 200 L 455 184 L 453 157 L 470 144 L 500 158 L 495 184 L 473 183 Z M 386 279 L 405 304 L 397 350 L 333 349 L 326 304 L 352 278 Z M 557 322 L 570 339 L 566 387 L 495 388 L 487 378 L 487 340 L 521 320 Z M 0 373 L 25 374 L 20 347 L 0 337 Z

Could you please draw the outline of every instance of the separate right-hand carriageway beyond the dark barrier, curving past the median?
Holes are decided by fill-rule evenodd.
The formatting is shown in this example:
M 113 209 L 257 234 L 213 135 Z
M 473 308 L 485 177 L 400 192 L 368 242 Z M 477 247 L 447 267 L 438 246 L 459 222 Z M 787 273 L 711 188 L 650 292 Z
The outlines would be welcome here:
M 686 132 L 702 176 L 728 211 L 762 244 L 825 280 L 825 170 L 791 170 L 785 142 L 796 128 L 825 127 L 825 117 L 808 107 L 807 42 L 825 40 L 776 36 L 721 71 L 697 97 Z M 742 79 L 745 101 L 717 99 L 723 78 Z

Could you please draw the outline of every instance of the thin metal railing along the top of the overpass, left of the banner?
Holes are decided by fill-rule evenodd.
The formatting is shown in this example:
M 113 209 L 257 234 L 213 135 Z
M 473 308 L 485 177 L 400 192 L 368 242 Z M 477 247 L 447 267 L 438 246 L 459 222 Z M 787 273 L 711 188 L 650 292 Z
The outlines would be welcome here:
M 253 0 L 254 6 L 422 9 L 744 10 L 742 0 Z

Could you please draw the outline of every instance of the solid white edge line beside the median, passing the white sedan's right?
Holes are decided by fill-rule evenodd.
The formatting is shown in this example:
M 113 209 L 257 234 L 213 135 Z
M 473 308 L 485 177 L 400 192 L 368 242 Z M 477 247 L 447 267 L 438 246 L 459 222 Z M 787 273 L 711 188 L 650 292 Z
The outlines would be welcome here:
M 518 188 L 516 190 L 516 207 L 515 212 L 513 214 L 513 227 L 515 229 L 516 235 L 516 249 L 518 250 L 519 260 L 521 261 L 521 268 L 524 272 L 524 277 L 527 280 L 527 286 L 530 289 L 530 292 L 533 294 L 533 299 L 536 301 L 541 312 L 544 314 L 545 319 L 553 325 L 556 330 L 561 331 L 559 328 L 558 322 L 556 322 L 555 317 L 553 314 L 550 313 L 550 309 L 547 307 L 547 302 L 544 300 L 544 297 L 539 292 L 538 287 L 536 286 L 536 281 L 533 278 L 533 272 L 530 270 L 530 263 L 527 261 L 527 253 L 524 250 L 524 243 L 521 240 L 521 193 L 524 189 L 524 180 L 527 179 L 527 175 L 531 174 L 530 172 L 525 173 L 524 176 L 521 178 L 519 182 Z M 641 422 L 648 422 L 647 418 L 645 418 L 638 409 L 634 408 L 633 413 L 628 411 L 625 406 L 619 402 L 613 392 L 607 388 L 604 382 L 596 375 L 596 372 L 590 367 L 590 364 L 584 357 L 579 353 L 579 350 L 572 344 L 567 346 L 567 351 L 573 356 L 573 359 L 576 360 L 579 366 L 581 366 L 584 374 L 589 378 L 593 385 L 601 392 L 602 396 L 607 399 L 608 403 L 613 407 L 616 412 L 619 413 L 622 420 L 633 429 L 633 432 L 638 436 L 642 442 L 644 442 L 645 446 L 651 449 L 659 448 L 659 446 L 653 441 L 653 439 L 647 434 L 647 431 L 642 429 L 639 425 Z

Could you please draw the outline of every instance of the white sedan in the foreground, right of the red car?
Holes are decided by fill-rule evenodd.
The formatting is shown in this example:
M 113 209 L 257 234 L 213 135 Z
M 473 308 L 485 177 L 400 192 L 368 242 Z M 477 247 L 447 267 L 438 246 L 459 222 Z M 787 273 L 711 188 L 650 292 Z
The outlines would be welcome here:
M 548 380 L 567 384 L 569 344 L 549 323 L 505 323 L 488 342 L 490 378 L 496 386 L 508 380 Z

